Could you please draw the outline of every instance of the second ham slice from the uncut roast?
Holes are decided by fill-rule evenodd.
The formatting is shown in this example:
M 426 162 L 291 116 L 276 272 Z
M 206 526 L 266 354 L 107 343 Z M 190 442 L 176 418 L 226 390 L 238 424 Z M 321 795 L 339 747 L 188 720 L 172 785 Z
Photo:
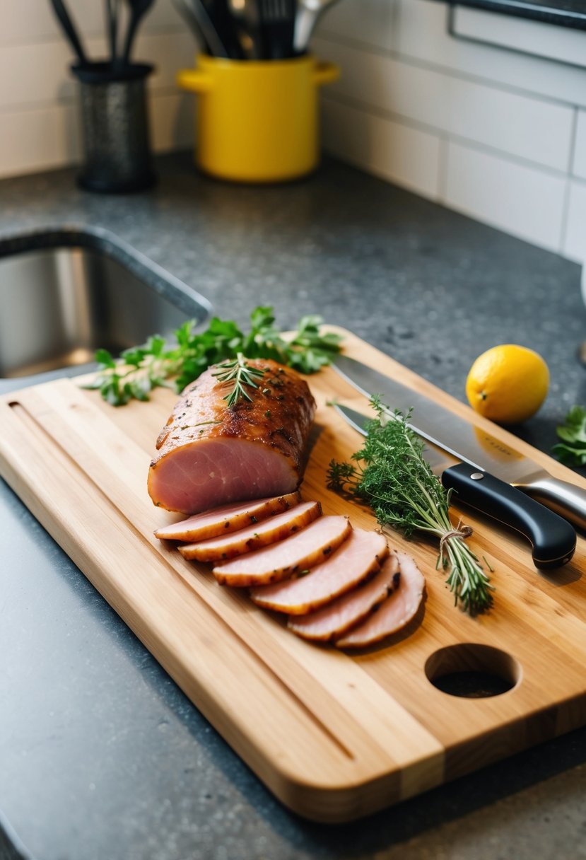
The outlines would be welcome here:
M 179 547 L 179 551 L 184 558 L 198 562 L 219 562 L 223 558 L 242 556 L 245 552 L 257 550 L 261 546 L 276 544 L 309 525 L 320 515 L 319 501 L 305 501 L 292 507 L 290 511 L 265 519 L 259 525 L 249 525 L 246 529 L 212 537 L 198 544 L 185 544 Z

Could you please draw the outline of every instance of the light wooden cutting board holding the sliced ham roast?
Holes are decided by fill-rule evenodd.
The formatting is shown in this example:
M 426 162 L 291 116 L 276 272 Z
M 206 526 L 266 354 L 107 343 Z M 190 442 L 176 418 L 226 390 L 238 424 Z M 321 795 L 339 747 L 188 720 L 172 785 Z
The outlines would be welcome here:
M 338 329 L 340 330 L 340 329 Z M 478 416 L 342 331 L 345 351 L 470 421 Z M 375 528 L 367 509 L 326 488 L 331 458 L 360 439 L 327 401 L 366 401 L 326 369 L 308 378 L 318 402 L 302 495 L 324 513 Z M 175 396 L 112 408 L 62 379 L 0 401 L 0 472 L 186 695 L 278 798 L 303 816 L 344 821 L 502 759 L 586 723 L 586 541 L 573 561 L 538 573 L 516 532 L 453 509 L 494 568 L 494 608 L 467 617 L 436 570 L 437 545 L 389 544 L 424 571 L 427 598 L 407 630 L 345 654 L 298 639 L 246 593 L 217 585 L 153 537 L 180 519 L 146 490 L 155 440 Z M 485 422 L 485 426 L 487 422 Z M 576 483 L 582 478 L 504 430 L 493 435 Z M 437 689 L 438 674 L 482 669 L 512 684 L 467 698 Z

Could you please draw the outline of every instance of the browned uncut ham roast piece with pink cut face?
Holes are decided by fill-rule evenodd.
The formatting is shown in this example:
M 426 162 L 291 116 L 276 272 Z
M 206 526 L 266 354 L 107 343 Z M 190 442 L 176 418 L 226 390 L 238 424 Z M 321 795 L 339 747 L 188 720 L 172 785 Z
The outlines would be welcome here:
M 248 359 L 264 371 L 252 401 L 229 407 L 233 383 L 214 366 L 189 384 L 156 442 L 149 494 L 158 507 L 199 513 L 295 490 L 301 480 L 315 402 L 295 371 Z

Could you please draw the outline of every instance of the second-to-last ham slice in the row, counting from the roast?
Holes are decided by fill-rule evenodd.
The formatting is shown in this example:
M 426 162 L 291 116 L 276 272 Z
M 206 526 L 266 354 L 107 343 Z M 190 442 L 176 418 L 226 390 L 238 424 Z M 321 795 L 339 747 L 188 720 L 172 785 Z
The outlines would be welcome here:
M 331 642 L 343 636 L 346 630 L 350 630 L 382 603 L 388 593 L 397 587 L 399 578 L 399 563 L 396 556 L 390 556 L 388 562 L 369 581 L 361 583 L 316 612 L 290 617 L 287 626 L 304 639 Z

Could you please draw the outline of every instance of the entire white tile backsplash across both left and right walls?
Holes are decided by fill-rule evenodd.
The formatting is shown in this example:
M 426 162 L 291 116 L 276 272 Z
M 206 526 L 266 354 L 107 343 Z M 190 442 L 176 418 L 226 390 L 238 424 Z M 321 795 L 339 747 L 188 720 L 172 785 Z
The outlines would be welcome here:
M 88 52 L 103 55 L 103 3 L 76 0 L 70 9 Z M 483 14 L 473 13 L 481 28 Z M 339 0 L 327 10 L 312 49 L 339 63 L 342 77 L 322 91 L 325 148 L 586 261 L 586 69 L 454 38 L 447 19 L 436 0 Z M 76 163 L 73 57 L 50 3 L 0 0 L 0 21 L 0 176 Z M 515 46 L 514 19 L 485 21 L 487 34 L 490 25 Z M 522 47 L 532 50 L 534 38 L 537 52 L 552 35 L 562 52 L 565 39 L 577 39 L 563 28 L 525 33 Z M 173 3 L 155 3 L 133 56 L 156 65 L 149 80 L 156 151 L 192 144 L 195 99 L 177 89 L 175 74 L 196 52 Z

